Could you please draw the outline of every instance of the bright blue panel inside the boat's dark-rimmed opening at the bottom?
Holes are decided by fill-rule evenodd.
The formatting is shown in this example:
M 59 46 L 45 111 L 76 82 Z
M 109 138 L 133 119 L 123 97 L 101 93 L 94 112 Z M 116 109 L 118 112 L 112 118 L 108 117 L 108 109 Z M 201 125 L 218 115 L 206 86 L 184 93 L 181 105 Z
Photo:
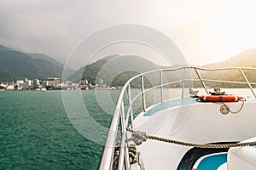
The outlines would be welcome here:
M 196 168 L 197 170 L 217 170 L 222 164 L 227 162 L 227 154 L 207 156 Z

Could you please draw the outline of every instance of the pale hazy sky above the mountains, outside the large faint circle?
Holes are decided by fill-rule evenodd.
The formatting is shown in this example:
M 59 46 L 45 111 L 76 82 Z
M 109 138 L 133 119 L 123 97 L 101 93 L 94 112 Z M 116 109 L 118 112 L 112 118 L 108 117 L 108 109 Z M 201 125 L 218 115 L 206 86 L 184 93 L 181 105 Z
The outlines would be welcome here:
M 189 64 L 204 65 L 256 47 L 255 8 L 254 0 L 0 0 L 0 43 L 65 60 L 91 32 L 133 23 L 161 31 Z

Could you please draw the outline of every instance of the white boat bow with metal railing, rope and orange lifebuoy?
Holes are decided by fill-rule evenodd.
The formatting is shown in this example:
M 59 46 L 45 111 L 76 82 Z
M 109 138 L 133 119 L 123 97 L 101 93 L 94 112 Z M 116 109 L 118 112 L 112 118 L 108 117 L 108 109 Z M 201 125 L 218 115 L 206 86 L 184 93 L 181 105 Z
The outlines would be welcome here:
M 240 72 L 243 81 L 207 79 L 202 77 L 206 71 Z M 256 169 L 256 94 L 252 87 L 256 82 L 249 82 L 246 75 L 255 71 L 188 66 L 132 77 L 119 94 L 100 169 Z M 180 79 L 167 77 L 170 72 L 180 73 Z M 158 76 L 154 77 L 157 83 L 146 88 L 150 75 Z M 210 93 L 212 89 L 207 88 L 234 84 L 247 87 L 243 89 L 253 98 L 236 95 L 242 89 L 234 95 L 220 88 Z M 171 93 L 177 90 L 178 98 Z

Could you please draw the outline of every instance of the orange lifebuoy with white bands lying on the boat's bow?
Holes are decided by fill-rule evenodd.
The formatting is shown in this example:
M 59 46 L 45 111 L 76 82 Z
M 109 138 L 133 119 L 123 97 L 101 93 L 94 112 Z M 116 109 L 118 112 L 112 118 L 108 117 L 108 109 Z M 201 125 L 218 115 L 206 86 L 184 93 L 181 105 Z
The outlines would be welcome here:
M 199 97 L 201 101 L 212 101 L 212 102 L 236 102 L 242 99 L 241 96 L 236 96 L 232 94 L 226 94 L 226 95 L 201 95 Z

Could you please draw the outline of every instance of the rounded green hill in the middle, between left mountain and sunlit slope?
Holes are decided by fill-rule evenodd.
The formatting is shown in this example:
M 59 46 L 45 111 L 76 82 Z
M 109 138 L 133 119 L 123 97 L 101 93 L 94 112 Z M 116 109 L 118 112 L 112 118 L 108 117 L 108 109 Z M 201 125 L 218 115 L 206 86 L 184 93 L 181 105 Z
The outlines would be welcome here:
M 68 79 L 73 82 L 86 79 L 92 84 L 123 86 L 127 80 L 138 73 L 157 69 L 160 69 L 159 65 L 135 55 L 112 55 L 85 65 Z M 150 77 L 146 77 L 145 83 L 148 83 L 149 79 Z

